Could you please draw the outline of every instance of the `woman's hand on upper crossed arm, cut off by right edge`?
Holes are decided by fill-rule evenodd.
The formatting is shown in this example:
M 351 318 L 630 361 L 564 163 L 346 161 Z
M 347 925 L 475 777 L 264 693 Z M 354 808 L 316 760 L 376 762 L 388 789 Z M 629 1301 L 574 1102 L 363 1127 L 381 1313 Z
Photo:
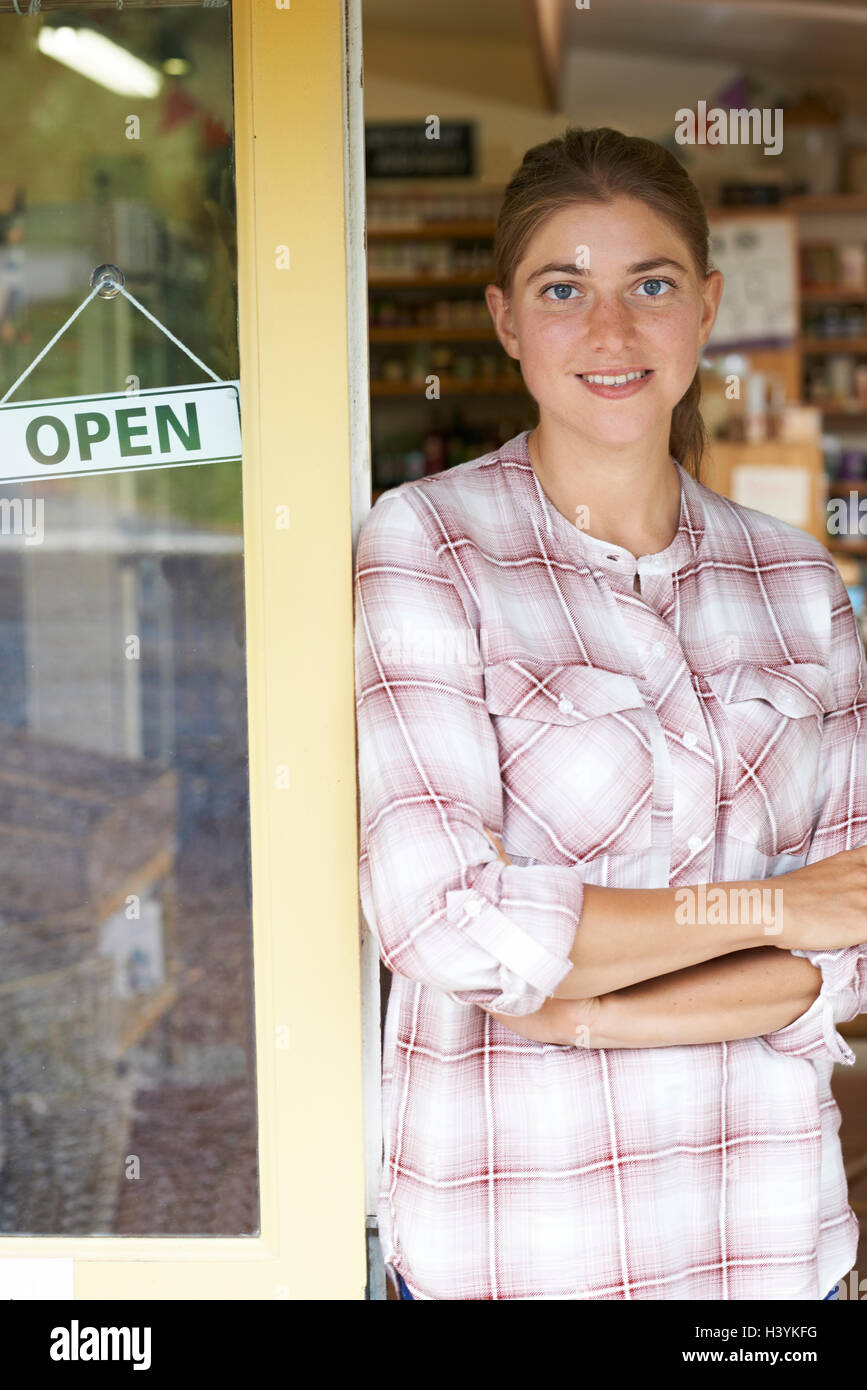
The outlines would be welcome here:
M 832 951 L 867 941 L 867 845 L 763 880 L 768 884 L 782 891 L 782 930 L 763 944 Z

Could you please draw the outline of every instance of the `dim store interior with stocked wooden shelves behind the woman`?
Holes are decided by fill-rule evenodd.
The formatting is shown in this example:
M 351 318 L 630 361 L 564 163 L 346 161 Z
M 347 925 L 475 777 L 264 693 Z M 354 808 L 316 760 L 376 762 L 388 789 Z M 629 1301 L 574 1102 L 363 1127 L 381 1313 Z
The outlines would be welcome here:
M 485 306 L 495 218 L 529 146 L 610 125 L 682 160 L 725 275 L 702 481 L 821 539 L 867 637 L 867 10 L 364 0 L 363 28 L 374 499 L 536 423 Z M 732 108 L 768 113 L 760 139 L 714 140 Z M 834 1073 L 861 1269 L 866 1023 Z

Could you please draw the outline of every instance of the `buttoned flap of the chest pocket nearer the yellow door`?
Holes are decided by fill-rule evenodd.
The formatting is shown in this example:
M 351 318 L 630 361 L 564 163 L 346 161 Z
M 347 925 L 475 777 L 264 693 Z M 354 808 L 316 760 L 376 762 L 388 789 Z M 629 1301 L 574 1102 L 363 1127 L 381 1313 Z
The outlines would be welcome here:
M 635 680 L 596 666 L 513 657 L 485 669 L 485 702 L 492 714 L 581 724 L 618 709 L 642 709 Z

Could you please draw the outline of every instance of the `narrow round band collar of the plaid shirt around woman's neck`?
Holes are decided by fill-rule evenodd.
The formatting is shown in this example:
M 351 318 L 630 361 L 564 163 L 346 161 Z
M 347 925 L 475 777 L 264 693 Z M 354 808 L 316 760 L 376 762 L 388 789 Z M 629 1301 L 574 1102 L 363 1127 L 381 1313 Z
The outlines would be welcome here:
M 499 449 L 500 463 L 504 468 L 513 492 L 520 505 L 538 523 L 546 535 L 554 534 L 567 539 L 574 549 L 578 546 L 588 563 L 600 564 L 614 573 L 629 574 L 635 570 L 635 556 L 621 545 L 611 545 L 610 541 L 600 541 L 595 535 L 582 531 L 557 512 L 535 474 L 529 459 L 529 430 L 524 430 Z M 654 555 L 638 556 L 639 571 L 649 574 L 674 574 L 684 566 L 692 563 L 702 539 L 704 537 L 704 507 L 700 498 L 700 484 L 686 468 L 671 459 L 681 478 L 681 517 L 677 532 L 664 550 Z

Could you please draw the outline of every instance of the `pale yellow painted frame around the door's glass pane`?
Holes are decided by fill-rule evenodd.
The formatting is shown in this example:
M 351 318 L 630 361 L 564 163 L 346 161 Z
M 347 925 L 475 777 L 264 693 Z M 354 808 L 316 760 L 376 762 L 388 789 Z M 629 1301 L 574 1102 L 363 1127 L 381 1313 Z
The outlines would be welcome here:
M 367 489 L 370 505 L 370 474 L 346 274 L 364 256 L 346 197 L 357 6 L 232 0 L 261 1233 L 0 1237 L 4 1265 L 71 1259 L 76 1298 L 364 1298 L 352 498 Z

